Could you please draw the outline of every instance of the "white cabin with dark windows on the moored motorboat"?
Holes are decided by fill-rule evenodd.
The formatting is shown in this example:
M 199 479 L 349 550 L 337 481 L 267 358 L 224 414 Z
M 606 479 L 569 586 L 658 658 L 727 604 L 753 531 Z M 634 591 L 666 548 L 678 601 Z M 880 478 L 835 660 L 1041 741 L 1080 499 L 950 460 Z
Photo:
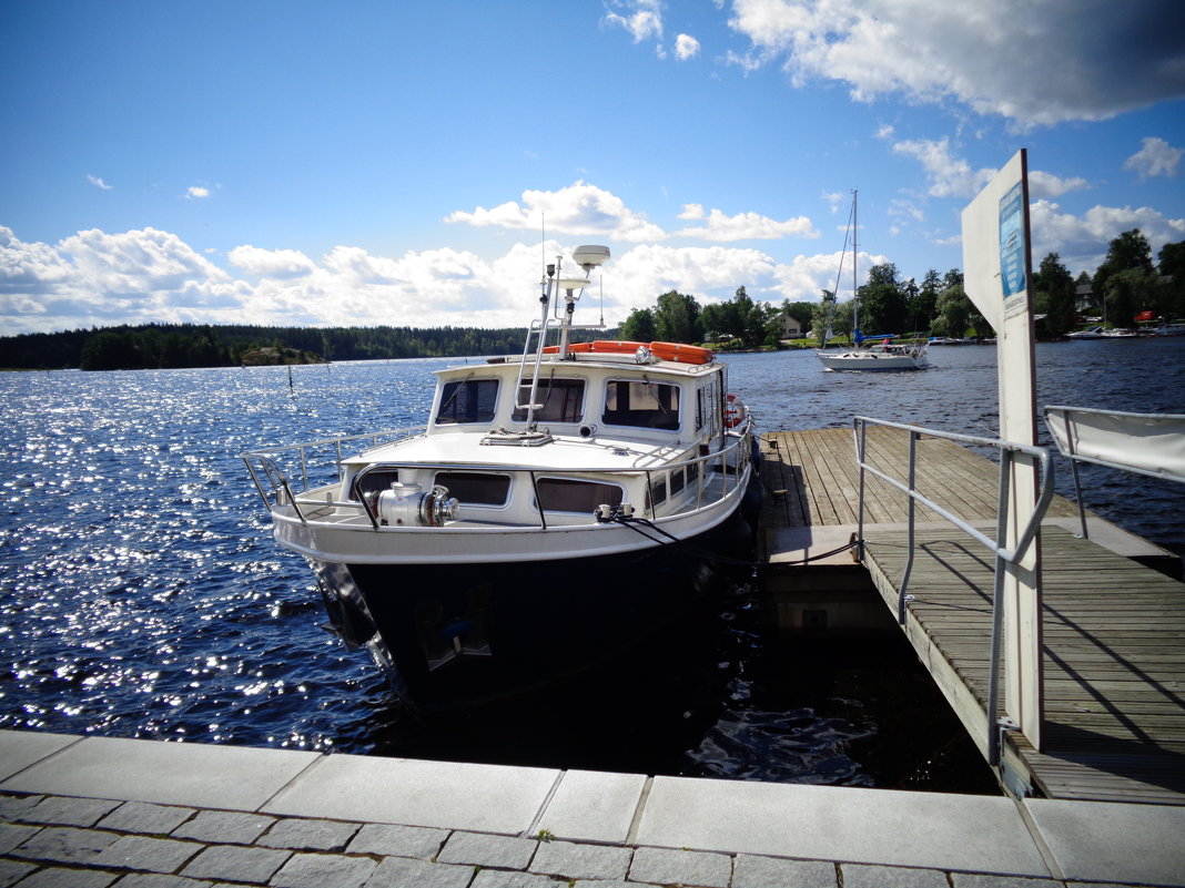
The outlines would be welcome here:
M 339 497 L 365 501 L 379 525 L 437 526 L 395 501 L 404 487 L 444 488 L 455 503 L 440 525 L 538 527 L 616 509 L 660 517 L 711 495 L 728 431 L 723 365 L 583 352 L 533 371 L 530 358 L 440 371 L 424 435 L 346 461 Z

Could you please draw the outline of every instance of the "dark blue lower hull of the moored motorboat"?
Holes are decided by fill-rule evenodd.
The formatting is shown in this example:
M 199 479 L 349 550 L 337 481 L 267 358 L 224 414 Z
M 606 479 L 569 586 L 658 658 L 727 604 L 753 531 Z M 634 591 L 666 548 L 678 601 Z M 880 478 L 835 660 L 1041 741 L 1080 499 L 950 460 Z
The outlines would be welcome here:
M 401 696 L 425 710 L 463 707 L 636 652 L 702 612 L 724 587 L 722 574 L 744 572 L 751 558 L 750 511 L 633 554 L 314 568 L 333 628 L 371 650 Z

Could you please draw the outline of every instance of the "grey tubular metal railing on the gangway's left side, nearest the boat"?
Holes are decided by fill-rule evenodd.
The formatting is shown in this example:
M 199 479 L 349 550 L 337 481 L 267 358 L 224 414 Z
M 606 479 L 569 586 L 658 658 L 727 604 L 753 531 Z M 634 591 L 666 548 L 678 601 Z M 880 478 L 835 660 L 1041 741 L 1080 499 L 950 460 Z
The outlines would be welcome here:
M 908 482 L 903 483 L 893 477 L 890 477 L 885 472 L 880 471 L 873 465 L 870 465 L 866 459 L 866 438 L 867 427 L 870 425 L 878 425 L 886 429 L 897 429 L 909 433 L 909 464 L 907 469 Z M 995 525 L 995 539 L 991 539 L 984 534 L 979 528 L 972 526 L 969 522 L 952 514 L 943 507 L 939 506 L 936 502 L 929 497 L 922 495 L 916 489 L 916 468 L 917 468 L 917 439 L 922 436 L 931 438 L 946 438 L 947 440 L 959 442 L 961 444 L 972 444 L 976 446 L 989 446 L 1000 451 L 1000 472 L 999 482 L 997 485 L 997 525 Z M 1031 444 L 1018 444 L 1016 442 L 1003 440 L 999 438 L 981 438 L 973 435 L 959 435 L 956 432 L 944 432 L 936 429 L 923 429 L 916 425 L 907 425 L 904 423 L 891 423 L 884 419 L 872 419 L 871 417 L 854 417 L 852 420 L 852 436 L 856 443 L 856 462 L 860 469 L 860 493 L 859 493 L 859 510 L 858 510 L 858 552 L 860 560 L 864 560 L 864 474 L 871 472 L 885 483 L 895 487 L 902 493 L 907 494 L 909 497 L 909 553 L 905 558 L 905 568 L 902 573 L 901 590 L 897 596 L 897 622 L 902 625 L 905 624 L 907 618 L 907 587 L 909 585 L 909 575 L 914 568 L 914 541 L 915 541 L 915 525 L 916 525 L 916 504 L 922 503 L 929 509 L 941 515 L 943 519 L 949 521 L 952 525 L 957 527 L 960 530 L 965 532 L 973 539 L 986 546 L 994 555 L 995 564 L 993 566 L 993 591 L 992 591 L 992 649 L 988 663 L 988 683 L 987 683 L 987 761 L 993 767 L 999 764 L 1000 760 L 1000 738 L 997 731 L 997 709 L 999 706 L 999 680 L 1000 680 L 1000 632 L 1004 624 L 1004 577 L 1005 577 L 1005 565 L 1016 565 L 1027 554 L 1029 547 L 1032 545 L 1033 540 L 1037 538 L 1037 533 L 1040 529 L 1042 519 L 1045 516 L 1045 511 L 1049 509 L 1050 502 L 1053 500 L 1053 461 L 1050 456 L 1048 448 L 1039 448 Z M 1029 516 L 1024 529 L 1017 538 L 1016 545 L 1010 549 L 1003 545 L 1003 540 L 1007 538 L 1008 532 L 1008 493 L 1011 489 L 1011 468 L 1016 461 L 1017 455 L 1025 455 L 1032 457 L 1037 461 L 1040 468 L 1040 493 L 1037 496 L 1037 502 L 1033 506 L 1032 514 Z

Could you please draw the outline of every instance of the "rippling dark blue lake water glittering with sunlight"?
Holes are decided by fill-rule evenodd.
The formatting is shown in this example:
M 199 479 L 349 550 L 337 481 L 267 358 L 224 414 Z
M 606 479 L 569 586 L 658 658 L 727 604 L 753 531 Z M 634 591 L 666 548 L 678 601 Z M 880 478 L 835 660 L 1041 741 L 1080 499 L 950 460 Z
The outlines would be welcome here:
M 1185 412 L 1185 339 L 1038 345 L 1038 403 Z M 911 374 L 736 355 L 762 430 L 853 414 L 997 433 L 995 349 L 931 349 Z M 423 723 L 365 654 L 319 628 L 301 559 L 270 539 L 237 455 L 419 423 L 456 361 L 2 373 L 0 727 L 552 767 L 978 790 L 912 655 L 777 644 L 730 591 L 697 665 L 591 676 L 545 706 Z M 480 363 L 475 360 L 474 363 Z M 1059 490 L 1069 489 L 1064 465 Z M 1088 504 L 1178 553 L 1185 488 L 1088 466 Z M 933 748 L 907 723 L 941 723 Z M 972 755 L 974 759 L 974 755 Z

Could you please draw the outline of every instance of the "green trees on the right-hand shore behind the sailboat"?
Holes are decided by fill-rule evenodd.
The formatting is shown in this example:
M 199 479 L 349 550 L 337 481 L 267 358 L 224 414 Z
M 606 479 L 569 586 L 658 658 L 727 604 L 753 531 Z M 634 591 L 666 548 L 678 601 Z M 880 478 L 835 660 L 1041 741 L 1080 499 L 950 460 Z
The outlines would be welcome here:
M 1083 316 L 1101 316 L 1109 326 L 1130 327 L 1135 316 L 1152 313 L 1165 321 L 1185 317 L 1185 242 L 1166 244 L 1152 262 L 1148 239 L 1139 229 L 1110 242 L 1107 258 L 1089 275 L 1075 278 L 1061 256 L 1049 253 L 1033 272 L 1031 290 L 1036 330 L 1040 339 L 1056 339 L 1082 326 Z M 930 269 L 921 284 L 902 279 L 891 263 L 873 265 L 857 288 L 859 328 L 864 335 L 905 336 L 994 335 L 991 326 L 963 289 L 959 269 L 939 274 Z M 780 307 L 755 303 L 737 289 L 729 302 L 700 305 L 675 290 L 658 297 L 654 308 L 635 309 L 621 327 L 623 339 L 647 342 L 707 342 L 717 347 L 777 347 L 782 316 L 799 322 L 818 339 L 831 324 L 837 339 L 852 339 L 853 301 L 839 302 L 831 290 L 820 302 L 784 301 Z

